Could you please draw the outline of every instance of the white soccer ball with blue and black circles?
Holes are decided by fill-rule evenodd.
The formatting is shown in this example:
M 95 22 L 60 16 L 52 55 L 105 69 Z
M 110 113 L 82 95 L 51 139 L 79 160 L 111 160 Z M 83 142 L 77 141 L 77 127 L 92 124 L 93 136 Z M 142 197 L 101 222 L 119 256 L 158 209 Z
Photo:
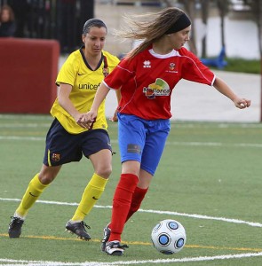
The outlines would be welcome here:
M 155 225 L 151 233 L 155 249 L 163 254 L 178 253 L 186 244 L 184 226 L 175 220 L 163 220 Z

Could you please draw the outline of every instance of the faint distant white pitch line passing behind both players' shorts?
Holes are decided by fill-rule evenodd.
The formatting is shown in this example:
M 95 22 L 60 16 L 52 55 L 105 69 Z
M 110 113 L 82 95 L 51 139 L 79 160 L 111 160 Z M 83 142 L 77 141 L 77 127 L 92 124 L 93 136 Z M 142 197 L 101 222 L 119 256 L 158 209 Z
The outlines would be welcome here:
M 45 137 L 18 137 L 18 136 L 0 136 L 0 140 L 29 140 L 29 141 L 44 141 Z M 118 143 L 116 139 L 111 139 L 111 143 Z M 221 142 L 170 142 L 167 141 L 166 145 L 184 145 L 184 146 L 231 146 L 240 148 L 262 148 L 259 143 L 221 143 Z

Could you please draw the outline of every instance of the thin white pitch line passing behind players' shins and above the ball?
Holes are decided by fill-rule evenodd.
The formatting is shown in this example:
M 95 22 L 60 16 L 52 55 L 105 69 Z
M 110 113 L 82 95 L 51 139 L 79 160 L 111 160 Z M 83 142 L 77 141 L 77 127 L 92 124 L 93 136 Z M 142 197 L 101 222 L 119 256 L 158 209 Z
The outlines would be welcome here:
M 4 199 L 0 198 L 0 201 L 20 201 L 20 199 Z M 62 202 L 62 201 L 52 201 L 52 200 L 36 200 L 36 203 L 42 203 L 42 204 L 52 204 L 52 205 L 62 205 L 62 206 L 78 206 L 78 203 L 76 202 Z M 100 206 L 95 205 L 94 207 L 98 208 L 112 208 L 112 206 Z M 195 219 L 205 219 L 205 220 L 214 220 L 214 221 L 221 221 L 226 223 L 242 223 L 247 224 L 252 227 L 262 227 L 262 223 L 255 223 L 255 222 L 247 222 L 242 221 L 239 219 L 230 219 L 225 217 L 214 217 L 214 216 L 208 216 L 208 215 L 196 215 L 196 214 L 186 214 L 186 213 L 178 213 L 178 212 L 171 212 L 171 211 L 160 211 L 160 210 L 154 210 L 154 209 L 139 209 L 139 212 L 142 213 L 151 213 L 151 214 L 157 214 L 157 215 L 177 215 L 177 216 L 184 216 L 184 217 L 190 217 Z

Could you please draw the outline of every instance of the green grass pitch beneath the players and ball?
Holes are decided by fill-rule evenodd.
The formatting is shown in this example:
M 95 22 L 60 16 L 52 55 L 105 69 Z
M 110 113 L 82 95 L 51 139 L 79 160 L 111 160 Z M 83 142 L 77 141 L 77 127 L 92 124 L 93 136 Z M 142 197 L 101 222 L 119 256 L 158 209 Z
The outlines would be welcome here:
M 0 115 L 0 263 L 3 265 L 17 264 L 3 259 L 24 260 L 26 262 L 20 262 L 24 264 L 32 260 L 74 262 L 76 265 L 81 262 L 171 260 L 262 252 L 261 227 L 209 218 L 262 223 L 262 124 L 259 123 L 172 122 L 163 158 L 141 206 L 143 210 L 163 213 L 151 211 L 134 215 L 123 232 L 123 241 L 127 241 L 130 248 L 123 257 L 115 258 L 99 250 L 102 230 L 111 215 L 107 206 L 112 203 L 121 168 L 117 124 L 108 121 L 116 152 L 114 170 L 106 192 L 85 219 L 91 225 L 91 241 L 75 239 L 64 231 L 67 220 L 75 212 L 74 205 L 44 203 L 36 203 L 30 209 L 20 239 L 9 239 L 8 223 L 19 204 L 13 199 L 22 197 L 28 182 L 42 165 L 44 137 L 51 121 L 49 115 Z M 79 163 L 67 164 L 40 200 L 76 204 L 91 175 L 91 162 L 85 158 Z M 200 219 L 196 215 L 207 217 Z M 179 220 L 186 228 L 187 245 L 179 254 L 159 254 L 150 243 L 155 224 L 167 218 Z M 176 265 L 261 265 L 262 256 L 207 262 L 164 262 Z

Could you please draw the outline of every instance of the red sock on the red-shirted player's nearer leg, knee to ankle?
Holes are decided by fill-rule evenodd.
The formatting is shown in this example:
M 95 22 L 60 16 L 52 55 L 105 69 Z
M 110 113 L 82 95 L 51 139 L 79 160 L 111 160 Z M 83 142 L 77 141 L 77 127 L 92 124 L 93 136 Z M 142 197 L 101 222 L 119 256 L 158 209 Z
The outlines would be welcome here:
M 112 218 L 110 223 L 110 238 L 108 241 L 121 241 L 121 234 L 126 217 L 131 207 L 133 192 L 139 182 L 138 176 L 122 174 L 115 189 Z

